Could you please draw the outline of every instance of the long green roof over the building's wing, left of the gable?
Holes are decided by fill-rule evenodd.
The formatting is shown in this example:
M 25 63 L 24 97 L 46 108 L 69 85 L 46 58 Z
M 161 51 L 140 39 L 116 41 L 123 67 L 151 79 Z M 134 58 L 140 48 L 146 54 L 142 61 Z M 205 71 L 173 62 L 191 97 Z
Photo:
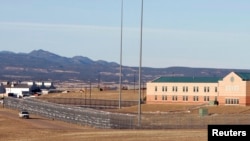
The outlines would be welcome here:
M 220 77 L 160 77 L 152 82 L 171 82 L 171 83 L 218 83 Z

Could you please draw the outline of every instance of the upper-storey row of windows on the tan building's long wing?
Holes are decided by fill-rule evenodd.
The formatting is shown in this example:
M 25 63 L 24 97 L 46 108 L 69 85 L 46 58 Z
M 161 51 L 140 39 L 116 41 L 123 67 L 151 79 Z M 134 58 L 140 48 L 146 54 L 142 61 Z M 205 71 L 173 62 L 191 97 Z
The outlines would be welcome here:
M 155 92 L 158 91 L 158 87 L 155 86 Z M 162 86 L 162 92 L 167 92 L 168 91 L 168 87 L 167 86 Z M 178 91 L 178 87 L 177 86 L 172 86 L 172 92 L 177 92 Z M 183 86 L 182 87 L 182 91 L 183 92 L 188 92 L 188 86 Z M 206 92 L 210 92 L 210 87 L 205 86 L 203 91 Z M 217 87 L 214 87 L 214 92 L 217 92 L 218 89 Z M 198 86 L 194 86 L 193 87 L 193 92 L 199 92 L 199 87 Z

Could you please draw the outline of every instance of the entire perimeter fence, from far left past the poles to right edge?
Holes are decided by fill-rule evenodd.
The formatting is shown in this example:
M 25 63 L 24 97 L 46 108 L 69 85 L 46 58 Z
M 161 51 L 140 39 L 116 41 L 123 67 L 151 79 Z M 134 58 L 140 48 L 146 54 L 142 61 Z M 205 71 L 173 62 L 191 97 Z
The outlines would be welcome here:
M 36 98 L 5 98 L 4 107 L 28 110 L 40 116 L 69 123 L 115 129 L 206 129 L 210 124 L 250 125 L 250 114 L 208 114 L 183 112 L 135 114 L 112 113 L 74 105 L 56 104 Z

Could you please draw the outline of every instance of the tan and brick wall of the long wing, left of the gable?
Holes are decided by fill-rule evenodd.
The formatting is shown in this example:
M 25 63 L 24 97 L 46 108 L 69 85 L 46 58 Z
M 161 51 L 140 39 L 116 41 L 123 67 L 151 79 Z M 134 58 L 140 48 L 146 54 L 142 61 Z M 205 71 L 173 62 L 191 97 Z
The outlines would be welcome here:
M 147 103 L 202 104 L 217 96 L 218 83 L 147 83 Z

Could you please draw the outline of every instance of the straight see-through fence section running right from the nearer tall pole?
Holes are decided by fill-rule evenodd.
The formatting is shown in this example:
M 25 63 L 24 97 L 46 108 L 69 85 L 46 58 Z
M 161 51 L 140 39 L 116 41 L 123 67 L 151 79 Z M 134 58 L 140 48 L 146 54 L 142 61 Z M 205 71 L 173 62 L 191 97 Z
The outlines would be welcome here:
M 206 129 L 208 125 L 249 125 L 250 114 L 214 114 L 200 116 L 190 113 L 143 114 L 142 129 Z

